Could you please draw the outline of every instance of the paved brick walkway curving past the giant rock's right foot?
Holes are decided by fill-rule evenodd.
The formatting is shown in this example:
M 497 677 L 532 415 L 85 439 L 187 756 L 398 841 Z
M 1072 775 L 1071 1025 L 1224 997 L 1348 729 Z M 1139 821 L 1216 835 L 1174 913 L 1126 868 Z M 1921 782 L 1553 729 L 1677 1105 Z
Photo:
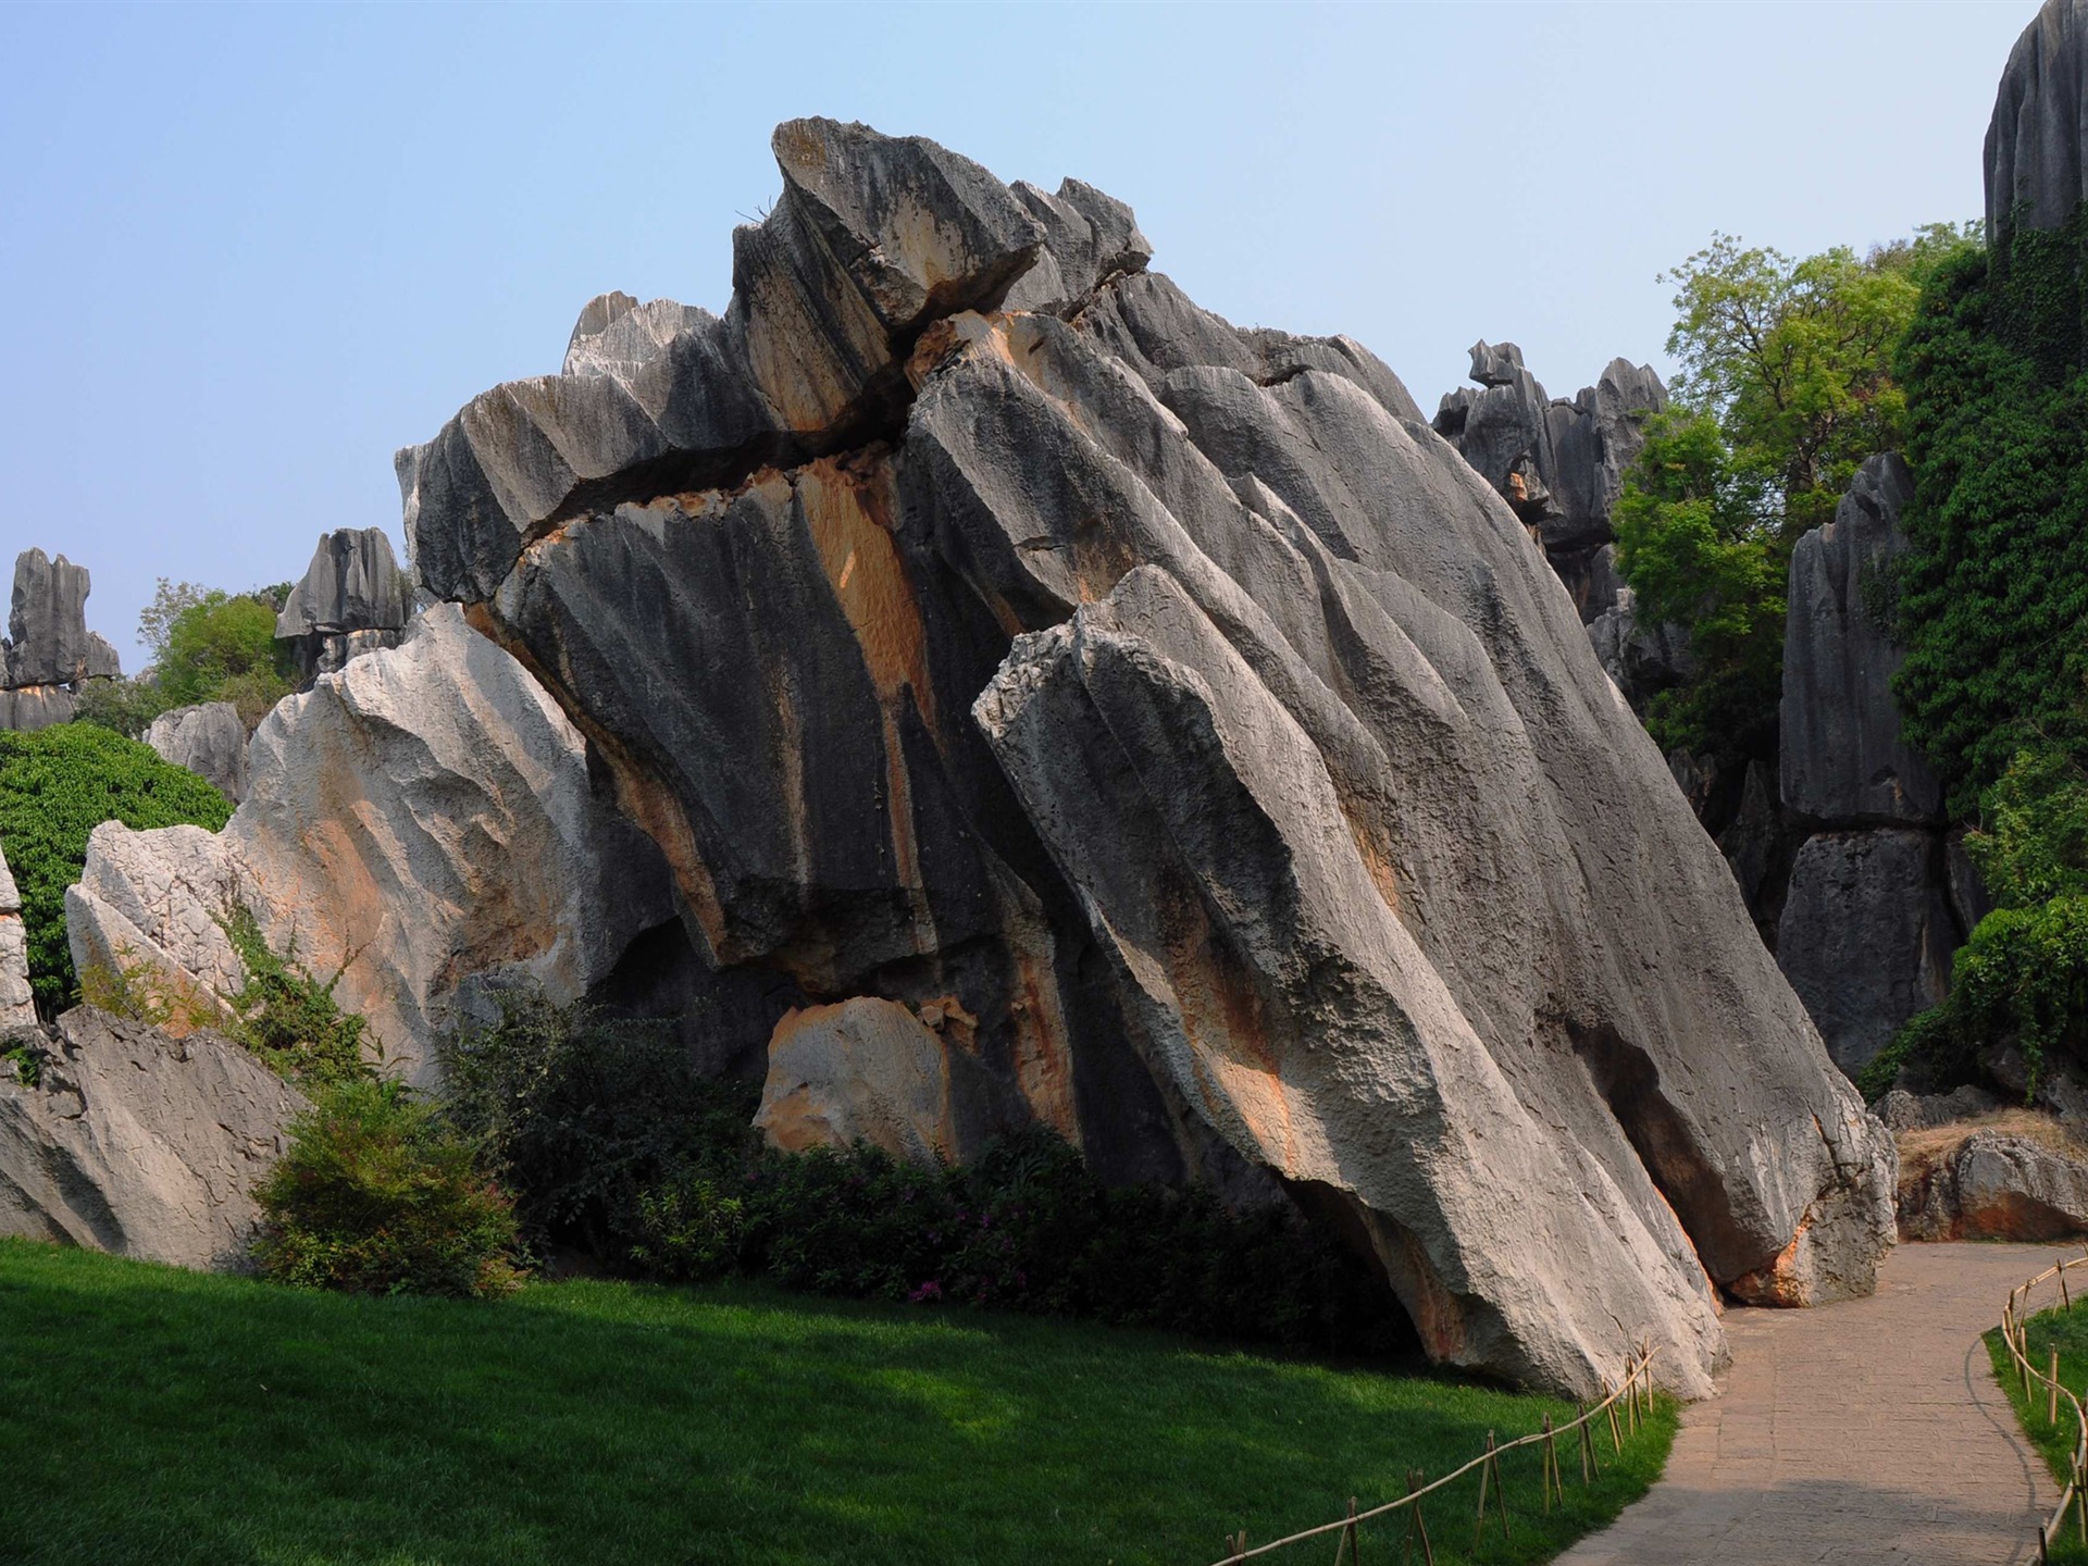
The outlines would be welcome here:
M 2059 1493 L 1979 1334 L 2053 1257 L 1902 1244 L 1873 1299 L 1729 1311 L 1725 1395 L 1685 1409 L 1660 1482 L 1560 1566 L 2034 1562 Z

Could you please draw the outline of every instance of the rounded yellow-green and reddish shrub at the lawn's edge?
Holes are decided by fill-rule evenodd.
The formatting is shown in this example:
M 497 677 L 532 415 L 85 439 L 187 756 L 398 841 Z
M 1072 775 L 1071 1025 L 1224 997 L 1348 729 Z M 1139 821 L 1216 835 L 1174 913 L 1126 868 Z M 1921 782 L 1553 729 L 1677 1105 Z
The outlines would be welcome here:
M 501 1295 L 516 1217 L 476 1146 L 399 1082 L 322 1090 L 261 1182 L 261 1272 L 357 1295 Z

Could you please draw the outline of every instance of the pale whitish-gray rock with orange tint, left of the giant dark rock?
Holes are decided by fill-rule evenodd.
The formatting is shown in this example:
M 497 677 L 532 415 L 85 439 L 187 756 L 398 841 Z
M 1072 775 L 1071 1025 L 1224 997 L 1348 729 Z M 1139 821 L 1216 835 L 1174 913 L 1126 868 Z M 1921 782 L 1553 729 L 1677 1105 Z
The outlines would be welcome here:
M 674 919 L 658 850 L 597 798 L 580 735 L 453 606 L 278 704 L 251 760 L 223 833 L 94 829 L 65 900 L 81 971 L 150 969 L 207 1017 L 240 979 L 219 927 L 238 900 L 276 950 L 338 969 L 386 1065 L 428 1082 L 474 986 L 526 975 L 576 1000 Z

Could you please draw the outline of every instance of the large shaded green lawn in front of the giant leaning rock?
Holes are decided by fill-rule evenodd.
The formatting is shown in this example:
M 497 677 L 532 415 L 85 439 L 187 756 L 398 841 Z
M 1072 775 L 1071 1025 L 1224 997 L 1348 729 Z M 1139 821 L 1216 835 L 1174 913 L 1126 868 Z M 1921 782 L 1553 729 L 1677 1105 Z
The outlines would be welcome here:
M 345 1299 L 0 1240 L 6 1562 L 1203 1566 L 1230 1531 L 1391 1499 L 1545 1414 L 1570 1409 L 743 1284 Z M 1606 1437 L 1549 1520 L 1518 1453 L 1514 1547 L 1478 1560 L 1549 1558 L 1643 1493 L 1670 1437 L 1666 1405 L 1622 1460 Z M 1472 1491 L 1430 1533 L 1464 1560 Z M 1366 1531 L 1366 1558 L 1397 1543 Z

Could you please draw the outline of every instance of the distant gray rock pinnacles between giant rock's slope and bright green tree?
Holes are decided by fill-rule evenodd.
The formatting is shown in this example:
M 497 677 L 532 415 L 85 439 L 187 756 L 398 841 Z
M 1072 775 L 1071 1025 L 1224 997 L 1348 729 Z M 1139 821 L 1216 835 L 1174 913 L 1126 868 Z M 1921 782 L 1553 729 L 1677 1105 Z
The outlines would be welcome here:
M 1545 555 L 1581 618 L 1593 624 L 1618 606 L 1622 583 L 1610 545 L 1610 514 L 1622 493 L 1624 470 L 1645 445 L 1645 418 L 1668 405 L 1668 388 L 1650 365 L 1612 359 L 1601 378 L 1574 399 L 1551 399 L 1522 365 L 1522 349 L 1485 340 L 1472 345 L 1472 380 L 1480 390 L 1457 388 L 1443 397 L 1434 430 L 1457 447 L 1518 518 L 1539 530 Z M 1635 631 L 1627 618 L 1622 626 L 1612 620 L 1604 635 L 1618 643 Z M 1662 637 L 1677 639 L 1677 633 L 1647 628 L 1650 641 Z M 1629 668 L 1633 660 L 1650 660 L 1654 666 L 1670 656 L 1666 647 L 1647 654 L 1616 649 L 1608 662 Z M 1633 685 L 1622 689 L 1635 693 Z

